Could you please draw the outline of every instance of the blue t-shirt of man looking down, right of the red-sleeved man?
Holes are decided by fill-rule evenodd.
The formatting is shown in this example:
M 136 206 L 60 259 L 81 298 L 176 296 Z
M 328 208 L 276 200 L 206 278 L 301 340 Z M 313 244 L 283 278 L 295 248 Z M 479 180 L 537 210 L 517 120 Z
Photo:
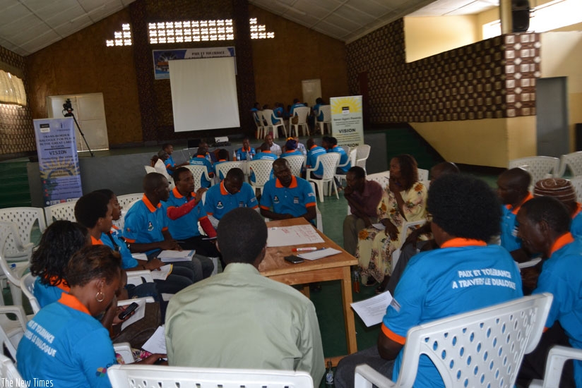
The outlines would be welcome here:
M 214 185 L 206 192 L 204 210 L 209 216 L 215 219 L 221 219 L 227 212 L 237 207 L 250 207 L 256 209 L 259 207 L 256 203 L 254 189 L 247 182 L 243 182 L 238 193 L 231 194 L 225 188 L 225 182 L 220 185 Z

